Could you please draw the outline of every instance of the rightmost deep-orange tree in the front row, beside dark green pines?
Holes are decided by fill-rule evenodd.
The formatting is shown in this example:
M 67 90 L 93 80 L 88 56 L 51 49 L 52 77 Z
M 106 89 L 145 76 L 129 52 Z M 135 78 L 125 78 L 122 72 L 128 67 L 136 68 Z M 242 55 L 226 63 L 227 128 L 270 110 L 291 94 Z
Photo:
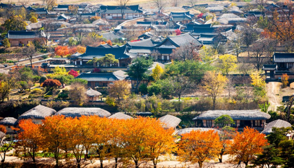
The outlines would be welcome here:
M 246 126 L 242 133 L 236 133 L 228 145 L 228 154 L 231 155 L 232 161 L 242 161 L 247 166 L 248 162 L 256 159 L 256 154 L 262 153 L 266 145 L 268 142 L 265 134 Z

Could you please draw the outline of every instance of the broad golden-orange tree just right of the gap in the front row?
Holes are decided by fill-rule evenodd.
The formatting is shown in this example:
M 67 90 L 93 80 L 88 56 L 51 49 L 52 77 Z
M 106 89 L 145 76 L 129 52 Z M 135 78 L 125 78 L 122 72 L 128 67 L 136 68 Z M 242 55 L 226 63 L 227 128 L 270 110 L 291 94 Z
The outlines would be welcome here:
M 222 148 L 220 137 L 214 130 L 192 130 L 182 136 L 178 144 L 180 160 L 198 163 L 200 167 L 205 160 L 216 158 Z

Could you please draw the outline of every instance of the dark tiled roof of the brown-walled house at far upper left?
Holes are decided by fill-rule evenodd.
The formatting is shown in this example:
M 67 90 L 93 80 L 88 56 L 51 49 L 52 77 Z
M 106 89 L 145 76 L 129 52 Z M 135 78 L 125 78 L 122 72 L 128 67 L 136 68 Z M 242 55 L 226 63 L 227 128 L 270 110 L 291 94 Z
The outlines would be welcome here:
M 9 39 L 40 38 L 41 31 L 8 31 Z

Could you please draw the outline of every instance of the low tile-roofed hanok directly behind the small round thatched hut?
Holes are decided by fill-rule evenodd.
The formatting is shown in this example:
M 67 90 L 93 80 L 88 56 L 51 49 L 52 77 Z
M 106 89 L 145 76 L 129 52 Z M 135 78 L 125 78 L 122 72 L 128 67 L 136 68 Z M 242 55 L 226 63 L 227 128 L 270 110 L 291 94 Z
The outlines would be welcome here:
M 88 81 L 88 87 L 106 87 L 114 81 L 124 80 L 126 77 L 116 74 L 117 71 L 112 73 L 81 73 L 76 78 L 85 79 Z

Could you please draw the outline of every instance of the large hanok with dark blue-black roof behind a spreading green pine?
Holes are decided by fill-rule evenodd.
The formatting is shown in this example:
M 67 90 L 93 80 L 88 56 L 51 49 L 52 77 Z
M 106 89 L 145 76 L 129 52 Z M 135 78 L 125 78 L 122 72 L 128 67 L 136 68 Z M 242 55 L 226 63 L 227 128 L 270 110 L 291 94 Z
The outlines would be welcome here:
M 119 60 L 118 64 L 87 64 L 89 60 L 93 58 L 102 58 L 105 57 L 106 54 L 115 55 L 115 59 Z M 116 47 L 116 48 L 97 48 L 87 46 L 86 52 L 73 58 L 75 66 L 91 66 L 91 67 L 126 67 L 131 63 L 132 58 L 135 58 L 136 54 L 128 53 L 126 50 L 126 46 Z

